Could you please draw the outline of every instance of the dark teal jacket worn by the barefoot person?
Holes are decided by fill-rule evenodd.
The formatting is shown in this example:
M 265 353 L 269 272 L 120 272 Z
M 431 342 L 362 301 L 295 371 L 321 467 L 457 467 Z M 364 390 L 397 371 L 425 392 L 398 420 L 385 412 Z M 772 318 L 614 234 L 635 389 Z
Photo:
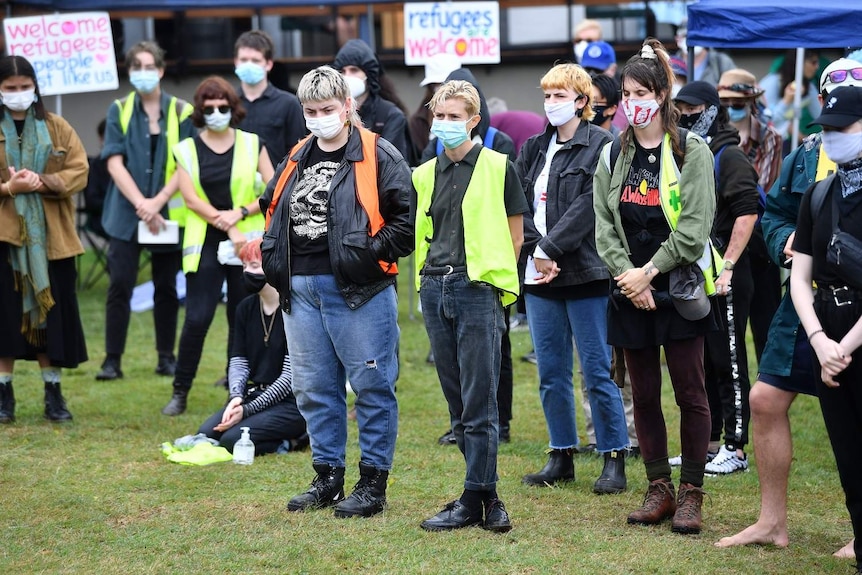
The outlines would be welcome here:
M 769 257 L 779 266 L 786 267 L 784 246 L 790 234 L 796 231 L 802 196 L 815 182 L 819 153 L 820 134 L 812 134 L 784 159 L 781 175 L 766 198 L 766 211 L 761 220 L 763 237 Z M 761 372 L 790 375 L 799 328 L 799 316 L 790 299 L 790 289 L 787 289 L 769 326 L 769 341 L 759 366 Z

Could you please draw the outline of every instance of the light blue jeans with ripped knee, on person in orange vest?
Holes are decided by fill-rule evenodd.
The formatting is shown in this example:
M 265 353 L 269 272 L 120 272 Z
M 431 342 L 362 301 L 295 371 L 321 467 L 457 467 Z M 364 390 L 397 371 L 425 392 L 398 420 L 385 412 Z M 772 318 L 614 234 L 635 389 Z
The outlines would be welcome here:
M 282 314 L 284 333 L 314 463 L 345 466 L 349 378 L 356 392 L 360 461 L 391 469 L 398 436 L 395 286 L 350 309 L 334 276 L 294 276 L 290 301 L 291 313 Z

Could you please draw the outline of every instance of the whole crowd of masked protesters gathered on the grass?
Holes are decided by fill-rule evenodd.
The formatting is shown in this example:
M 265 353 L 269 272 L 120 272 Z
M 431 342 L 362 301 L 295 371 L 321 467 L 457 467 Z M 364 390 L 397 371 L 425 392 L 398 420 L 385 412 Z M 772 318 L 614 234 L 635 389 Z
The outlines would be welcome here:
M 130 48 L 134 90 L 109 106 L 99 159 L 110 279 L 96 379 L 124 377 L 146 250 L 155 373 L 173 378 L 162 413 L 184 413 L 226 284 L 220 383 L 229 397 L 200 433 L 232 449 L 239 426 L 250 426 L 258 453 L 310 442 L 314 477 L 287 508 L 376 515 L 398 433 L 397 264 L 412 253 L 429 362 L 448 405 L 439 442 L 457 445 L 465 463 L 463 492 L 422 528 L 512 528 L 497 454 L 510 440 L 510 309 L 520 300 L 549 436 L 547 462 L 524 484 L 570 481 L 575 454 L 596 451 L 604 467 L 593 491 L 621 493 L 626 460 L 640 457 L 646 495 L 627 522 L 669 519 L 674 532 L 699 533 L 704 476 L 749 468 L 753 424 L 760 517 L 716 545 L 783 547 L 788 413 L 803 393 L 820 400 L 858 534 L 862 63 L 809 52 L 796 86 L 788 53 L 758 82 L 708 49 L 694 50 L 689 70 L 684 26 L 680 53 L 650 38 L 625 62 L 600 26 L 584 21 L 575 32 L 577 63 L 539 81 L 545 117 L 497 99 L 496 121 L 452 56 L 429 60 L 410 115 L 362 40 L 305 74 L 294 96 L 268 82 L 271 39 L 244 33 L 239 84 L 206 78 L 192 102 L 162 89 L 159 46 Z M 792 107 L 796 91 L 802 110 Z M 62 368 L 88 359 L 74 219 L 86 153 L 45 110 L 25 58 L 0 59 L 0 97 L 0 423 L 15 421 L 17 360 L 39 363 L 45 417 L 69 421 Z M 799 142 L 788 139 L 793 122 Z M 783 297 L 782 268 L 792 270 Z M 677 457 L 661 405 L 662 350 L 680 410 Z M 588 446 L 575 419 L 575 353 Z M 348 380 L 360 479 L 345 497 Z M 859 551 L 852 540 L 837 553 Z

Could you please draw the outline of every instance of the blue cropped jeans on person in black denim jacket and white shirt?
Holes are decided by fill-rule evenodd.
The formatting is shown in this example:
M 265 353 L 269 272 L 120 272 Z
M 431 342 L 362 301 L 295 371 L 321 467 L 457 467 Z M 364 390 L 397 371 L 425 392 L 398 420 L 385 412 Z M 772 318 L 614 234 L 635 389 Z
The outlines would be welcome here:
M 597 449 L 601 453 L 625 449 L 629 444 L 626 416 L 620 388 L 611 379 L 611 348 L 606 343 L 608 298 L 561 300 L 528 293 L 525 301 L 551 449 L 578 445 L 573 335 L 593 413 Z

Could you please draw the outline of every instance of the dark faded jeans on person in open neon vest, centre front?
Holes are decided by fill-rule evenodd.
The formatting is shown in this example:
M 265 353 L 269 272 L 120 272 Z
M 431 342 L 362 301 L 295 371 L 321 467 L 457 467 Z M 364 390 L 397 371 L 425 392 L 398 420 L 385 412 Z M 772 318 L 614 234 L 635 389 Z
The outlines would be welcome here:
M 503 306 L 499 292 L 466 273 L 423 275 L 419 297 L 449 419 L 464 455 L 464 488 L 497 485 L 497 386 Z

